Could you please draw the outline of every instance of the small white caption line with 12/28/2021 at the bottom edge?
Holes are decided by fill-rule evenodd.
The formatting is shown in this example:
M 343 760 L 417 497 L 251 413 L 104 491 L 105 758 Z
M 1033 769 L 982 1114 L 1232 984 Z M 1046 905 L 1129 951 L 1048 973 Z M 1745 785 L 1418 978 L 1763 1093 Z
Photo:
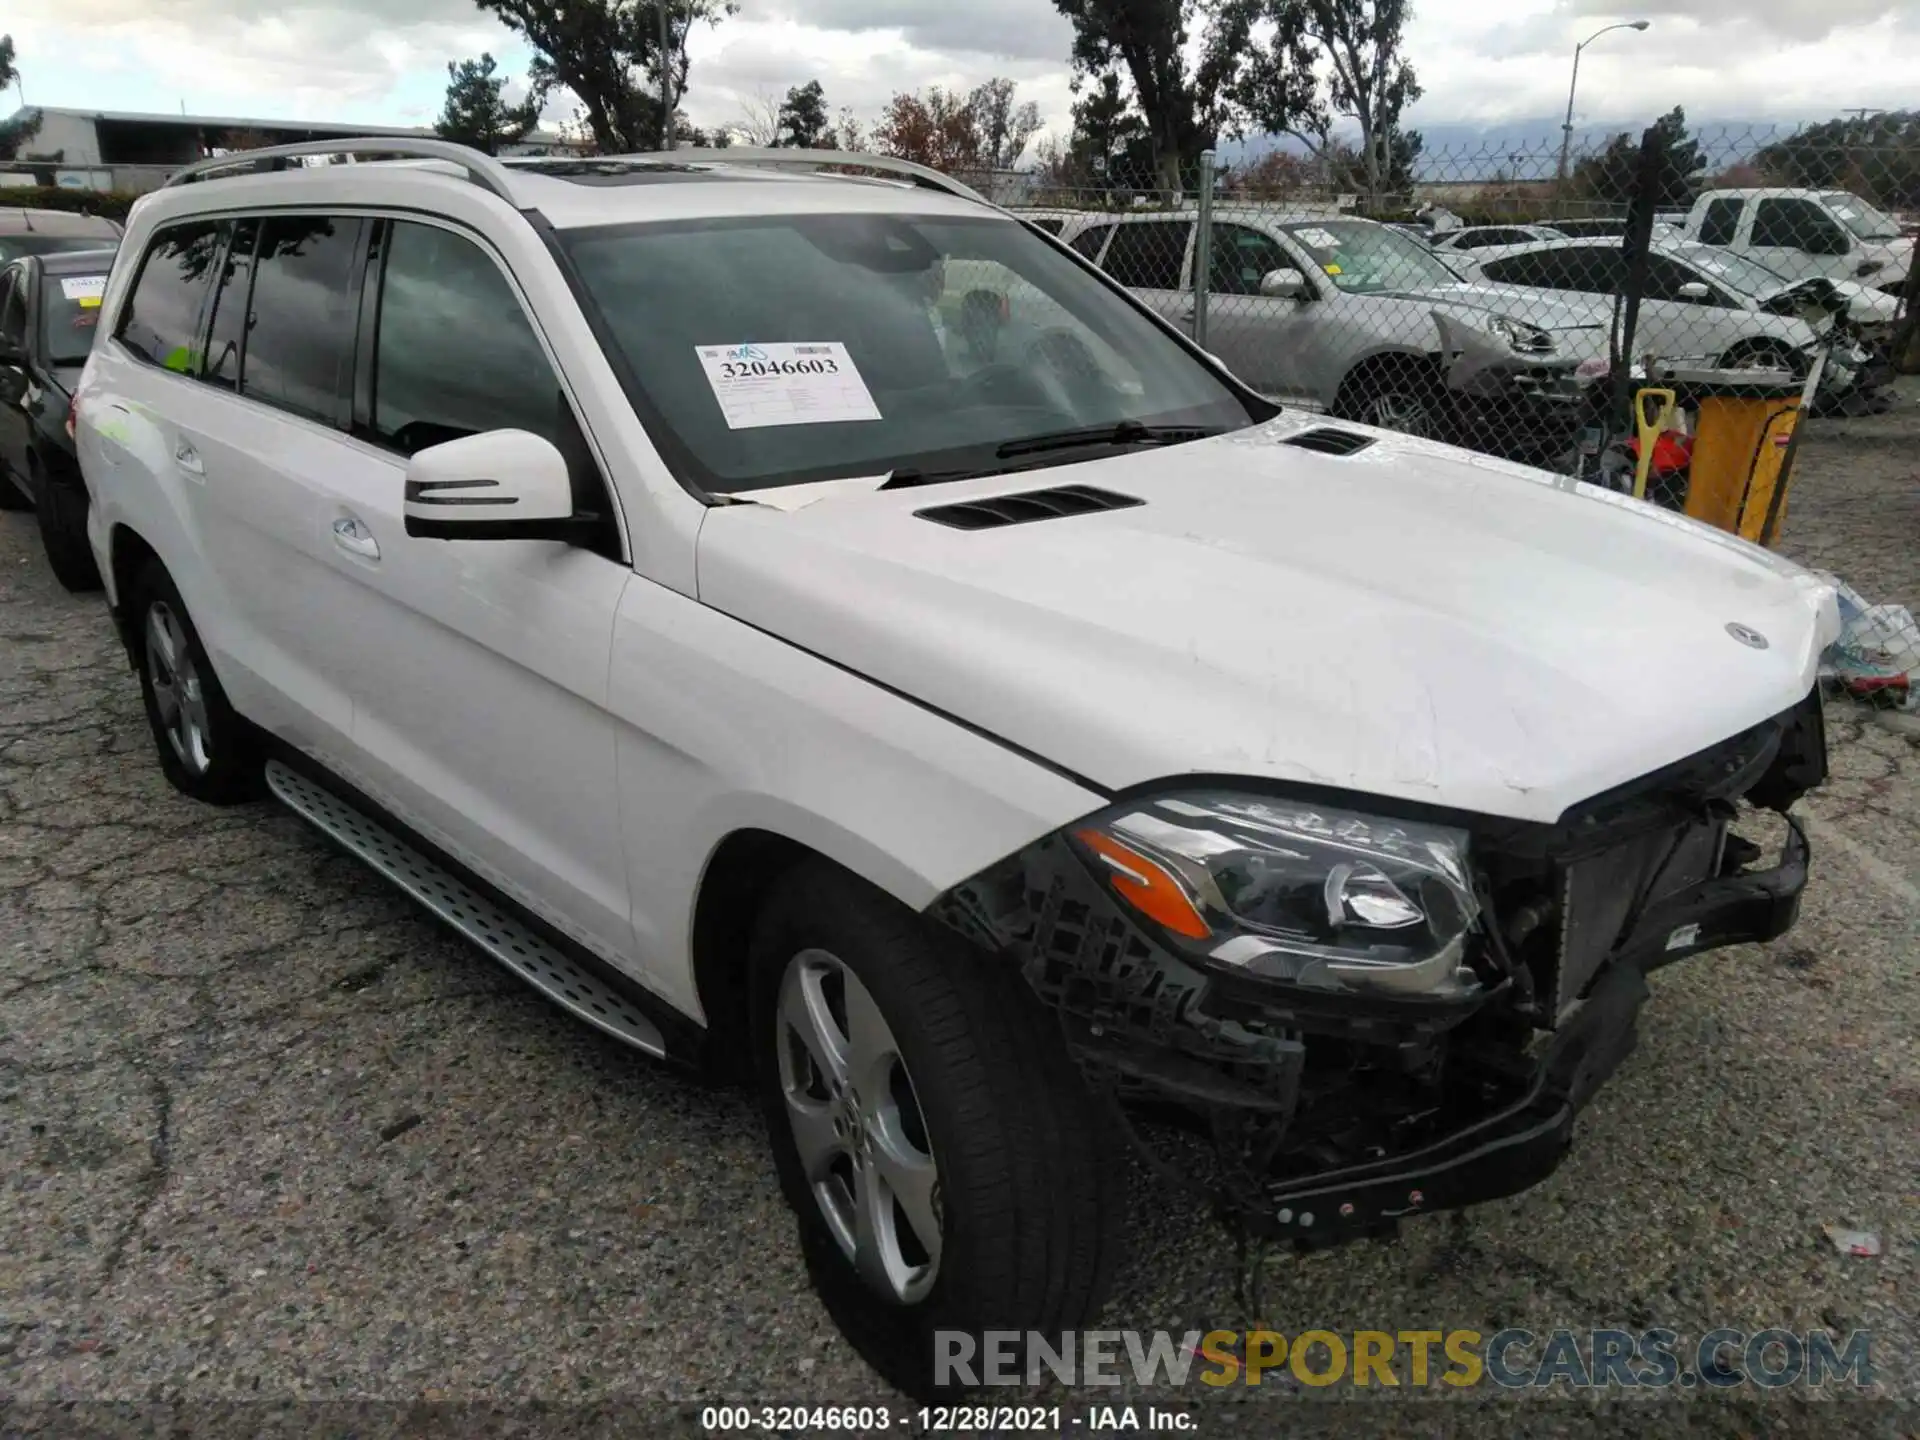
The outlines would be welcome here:
M 1198 1434 L 1177 1405 L 707 1405 L 708 1434 Z

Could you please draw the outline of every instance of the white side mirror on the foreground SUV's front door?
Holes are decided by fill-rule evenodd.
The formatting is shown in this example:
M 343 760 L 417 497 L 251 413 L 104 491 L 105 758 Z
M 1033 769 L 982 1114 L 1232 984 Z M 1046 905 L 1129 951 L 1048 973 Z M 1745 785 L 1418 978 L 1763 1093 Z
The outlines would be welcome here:
M 574 515 L 561 451 L 526 430 L 486 430 L 415 451 L 405 518 L 417 540 L 576 543 L 597 524 Z

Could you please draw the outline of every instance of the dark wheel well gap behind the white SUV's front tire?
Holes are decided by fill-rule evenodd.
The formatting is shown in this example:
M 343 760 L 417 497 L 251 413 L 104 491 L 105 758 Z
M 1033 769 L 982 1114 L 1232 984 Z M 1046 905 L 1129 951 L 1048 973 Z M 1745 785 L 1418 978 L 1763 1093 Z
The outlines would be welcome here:
M 822 858 L 768 829 L 735 829 L 707 862 L 693 902 L 693 983 L 707 1012 L 708 1068 L 716 1079 L 747 1081 L 747 958 L 760 902 L 781 876 Z

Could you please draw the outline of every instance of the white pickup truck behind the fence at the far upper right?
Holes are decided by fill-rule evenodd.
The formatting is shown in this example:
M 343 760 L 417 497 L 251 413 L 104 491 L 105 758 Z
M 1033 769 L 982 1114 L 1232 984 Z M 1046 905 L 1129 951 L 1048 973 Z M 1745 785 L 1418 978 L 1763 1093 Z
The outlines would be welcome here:
M 1707 190 L 1686 240 L 1736 250 L 1789 280 L 1824 275 L 1897 296 L 1914 242 L 1893 217 L 1845 190 Z

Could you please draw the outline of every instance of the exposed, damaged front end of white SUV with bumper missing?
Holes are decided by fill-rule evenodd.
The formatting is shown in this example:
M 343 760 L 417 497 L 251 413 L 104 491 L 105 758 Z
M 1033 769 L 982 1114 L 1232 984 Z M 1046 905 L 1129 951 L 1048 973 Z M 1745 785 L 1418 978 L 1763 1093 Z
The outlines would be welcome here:
M 1198 1135 L 1223 1219 L 1329 1244 L 1549 1175 L 1645 972 L 1793 924 L 1799 826 L 1763 862 L 1732 822 L 1824 776 L 1814 693 L 1553 826 L 1177 781 L 929 914 L 1018 960 L 1162 1173 Z

